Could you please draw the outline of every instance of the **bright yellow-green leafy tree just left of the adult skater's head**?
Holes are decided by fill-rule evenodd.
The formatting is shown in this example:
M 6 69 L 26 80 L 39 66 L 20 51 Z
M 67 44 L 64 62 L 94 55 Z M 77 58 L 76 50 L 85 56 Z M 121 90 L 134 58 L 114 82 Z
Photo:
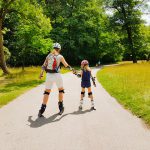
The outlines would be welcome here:
M 52 47 L 52 40 L 48 37 L 52 29 L 50 19 L 43 15 L 43 9 L 37 4 L 26 3 L 21 10 L 26 18 L 19 19 L 14 31 L 15 59 L 18 64 L 37 65 L 40 55 L 47 54 Z M 22 59 L 18 59 L 18 56 Z M 39 57 L 37 57 L 39 56 Z

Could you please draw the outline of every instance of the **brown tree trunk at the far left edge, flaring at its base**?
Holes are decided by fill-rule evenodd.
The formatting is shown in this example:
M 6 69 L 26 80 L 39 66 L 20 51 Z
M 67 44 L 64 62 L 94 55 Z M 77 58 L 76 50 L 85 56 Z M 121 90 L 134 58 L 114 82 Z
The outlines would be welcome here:
M 0 67 L 2 68 L 4 74 L 9 74 L 3 50 L 2 18 L 0 18 Z

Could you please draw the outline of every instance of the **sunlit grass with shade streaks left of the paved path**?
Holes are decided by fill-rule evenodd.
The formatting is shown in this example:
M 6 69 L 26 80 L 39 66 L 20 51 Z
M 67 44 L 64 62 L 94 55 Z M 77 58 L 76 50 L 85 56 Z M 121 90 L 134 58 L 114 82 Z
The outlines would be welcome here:
M 11 74 L 3 76 L 0 70 L 0 107 L 6 105 L 14 98 L 18 97 L 27 90 L 44 82 L 45 77 L 39 80 L 41 67 L 9 68 Z M 68 70 L 61 69 L 62 73 Z

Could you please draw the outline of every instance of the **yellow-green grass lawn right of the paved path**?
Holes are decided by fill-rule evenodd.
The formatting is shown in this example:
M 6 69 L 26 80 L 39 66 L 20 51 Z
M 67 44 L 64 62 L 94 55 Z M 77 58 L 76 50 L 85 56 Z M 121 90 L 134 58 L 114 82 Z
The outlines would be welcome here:
M 104 67 L 97 78 L 119 103 L 150 125 L 150 63 Z

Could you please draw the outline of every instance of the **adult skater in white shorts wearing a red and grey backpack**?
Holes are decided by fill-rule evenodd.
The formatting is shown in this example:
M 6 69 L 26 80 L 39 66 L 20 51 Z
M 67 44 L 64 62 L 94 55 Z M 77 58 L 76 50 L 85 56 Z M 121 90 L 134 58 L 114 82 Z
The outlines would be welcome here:
M 45 62 L 42 66 L 42 71 L 40 73 L 40 79 L 43 77 L 44 71 L 46 71 L 46 83 L 45 83 L 45 91 L 41 109 L 39 110 L 38 116 L 42 117 L 46 105 L 48 102 L 49 94 L 51 92 L 52 86 L 56 83 L 59 96 L 58 96 L 58 108 L 59 114 L 61 115 L 64 112 L 63 106 L 63 94 L 64 94 L 64 87 L 63 87 L 63 80 L 60 74 L 60 63 L 62 63 L 65 67 L 72 70 L 72 68 L 68 65 L 66 60 L 62 55 L 60 55 L 61 45 L 59 43 L 54 43 L 53 51 L 46 57 Z

